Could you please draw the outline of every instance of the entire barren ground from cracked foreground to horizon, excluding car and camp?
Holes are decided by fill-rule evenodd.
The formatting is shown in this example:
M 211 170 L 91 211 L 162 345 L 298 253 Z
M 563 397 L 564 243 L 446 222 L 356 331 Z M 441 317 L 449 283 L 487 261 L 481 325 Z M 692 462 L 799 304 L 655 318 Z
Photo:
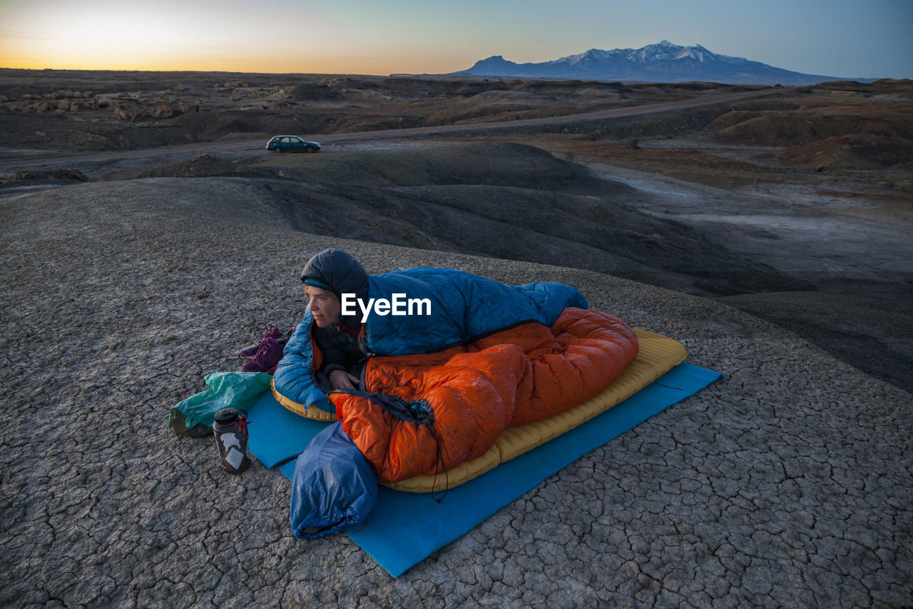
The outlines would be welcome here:
M 0 69 L 0 134 L 3 603 L 913 596 L 913 83 Z M 164 425 L 331 245 L 572 283 L 725 379 L 392 580 Z

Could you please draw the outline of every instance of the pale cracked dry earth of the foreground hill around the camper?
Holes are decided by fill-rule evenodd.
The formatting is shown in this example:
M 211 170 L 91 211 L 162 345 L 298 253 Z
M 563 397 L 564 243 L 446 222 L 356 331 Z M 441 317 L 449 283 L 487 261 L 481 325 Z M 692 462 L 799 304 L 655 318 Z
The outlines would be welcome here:
M 315 237 L 258 192 L 163 178 L 0 199 L 0 604 L 910 604 L 910 394 L 724 305 Z M 210 439 L 166 425 L 268 322 L 299 319 L 299 269 L 331 245 L 368 272 L 571 283 L 726 377 L 394 580 L 347 537 L 295 540 L 278 472 L 227 475 Z

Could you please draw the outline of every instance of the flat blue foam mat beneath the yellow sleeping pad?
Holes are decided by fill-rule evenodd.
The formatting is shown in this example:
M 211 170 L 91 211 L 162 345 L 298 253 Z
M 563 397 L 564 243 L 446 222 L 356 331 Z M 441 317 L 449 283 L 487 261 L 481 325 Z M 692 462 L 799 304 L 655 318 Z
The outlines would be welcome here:
M 590 421 L 447 490 L 439 504 L 429 493 L 404 493 L 381 486 L 373 521 L 350 537 L 386 572 L 399 577 L 550 475 L 721 376 L 713 370 L 678 364 Z M 269 468 L 279 465 L 289 480 L 295 471 L 295 457 L 328 424 L 287 410 L 271 391 L 248 412 L 251 424 L 247 445 L 251 453 Z

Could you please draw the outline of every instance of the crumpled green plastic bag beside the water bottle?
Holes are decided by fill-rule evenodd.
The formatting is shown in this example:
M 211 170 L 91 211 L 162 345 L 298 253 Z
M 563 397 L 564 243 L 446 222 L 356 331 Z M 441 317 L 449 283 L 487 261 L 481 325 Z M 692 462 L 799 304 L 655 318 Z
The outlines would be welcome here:
M 266 372 L 211 372 L 205 377 L 209 389 L 196 393 L 174 408 L 187 417 L 187 427 L 202 422 L 212 425 L 223 408 L 247 411 L 268 390 L 272 376 Z

